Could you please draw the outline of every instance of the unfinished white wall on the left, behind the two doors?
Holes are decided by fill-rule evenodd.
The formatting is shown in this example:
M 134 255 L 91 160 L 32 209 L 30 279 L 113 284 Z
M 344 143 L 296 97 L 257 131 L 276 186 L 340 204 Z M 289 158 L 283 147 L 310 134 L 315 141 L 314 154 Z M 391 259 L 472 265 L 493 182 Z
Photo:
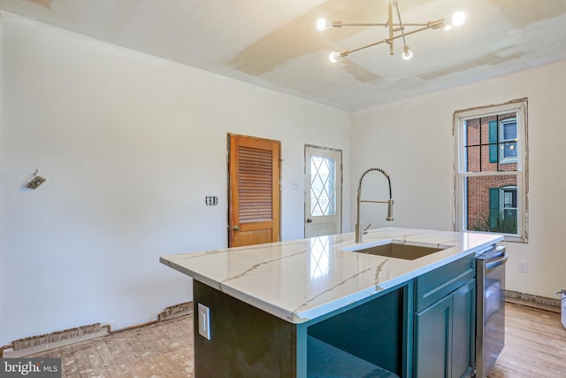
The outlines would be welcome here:
M 158 258 L 226 246 L 226 133 L 281 141 L 284 240 L 303 235 L 304 143 L 349 166 L 346 112 L 6 12 L 0 33 L 0 345 L 190 300 Z

